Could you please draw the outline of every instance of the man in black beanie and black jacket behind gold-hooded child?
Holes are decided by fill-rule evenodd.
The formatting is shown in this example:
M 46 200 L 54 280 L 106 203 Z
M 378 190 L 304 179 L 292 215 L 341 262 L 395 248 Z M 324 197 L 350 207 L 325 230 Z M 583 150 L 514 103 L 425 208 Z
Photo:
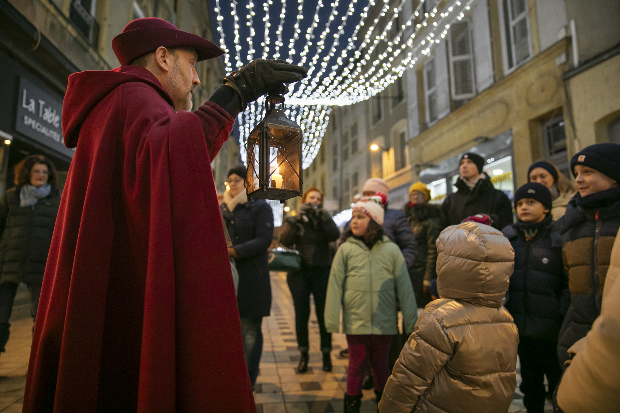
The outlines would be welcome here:
M 512 205 L 507 195 L 495 189 L 491 180 L 482 172 L 484 159 L 475 153 L 461 157 L 456 180 L 457 192 L 446 197 L 441 205 L 441 228 L 455 225 L 467 216 L 487 214 L 493 219 L 493 226 L 502 229 L 512 223 Z

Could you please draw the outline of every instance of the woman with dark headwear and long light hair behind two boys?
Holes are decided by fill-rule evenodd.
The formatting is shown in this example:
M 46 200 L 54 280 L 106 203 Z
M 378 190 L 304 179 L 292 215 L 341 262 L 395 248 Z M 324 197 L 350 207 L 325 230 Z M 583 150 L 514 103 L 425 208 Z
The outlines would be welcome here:
M 538 182 L 549 189 L 553 199 L 551 216 L 554 221 L 564 215 L 570 198 L 577 192 L 575 185 L 551 161 L 531 164 L 528 168 L 528 182 Z

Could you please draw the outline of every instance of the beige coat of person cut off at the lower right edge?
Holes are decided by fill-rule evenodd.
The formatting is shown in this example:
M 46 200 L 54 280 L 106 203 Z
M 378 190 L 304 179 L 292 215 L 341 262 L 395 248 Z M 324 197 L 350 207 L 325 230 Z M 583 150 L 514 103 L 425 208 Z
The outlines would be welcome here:
M 620 409 L 620 236 L 611 250 L 603 288 L 601 315 L 576 353 L 557 389 L 557 404 L 565 413 L 617 412 Z

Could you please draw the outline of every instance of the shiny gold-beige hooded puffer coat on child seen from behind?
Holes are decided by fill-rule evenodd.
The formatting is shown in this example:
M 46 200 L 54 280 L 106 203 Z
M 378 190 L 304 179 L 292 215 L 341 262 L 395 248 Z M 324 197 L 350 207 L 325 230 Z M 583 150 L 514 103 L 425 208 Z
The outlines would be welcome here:
M 472 222 L 437 239 L 437 289 L 402 349 L 381 413 L 507 412 L 519 335 L 500 304 L 515 252 L 500 231 Z

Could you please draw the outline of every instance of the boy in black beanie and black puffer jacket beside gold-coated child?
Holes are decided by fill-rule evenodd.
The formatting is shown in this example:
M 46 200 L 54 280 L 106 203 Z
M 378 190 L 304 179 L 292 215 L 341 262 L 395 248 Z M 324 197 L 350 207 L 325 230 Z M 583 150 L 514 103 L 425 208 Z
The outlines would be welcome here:
M 570 293 L 562 265 L 560 234 L 552 231 L 552 197 L 542 184 L 529 182 L 515 192 L 518 222 L 503 229 L 515 249 L 506 308 L 519 329 L 520 389 L 528 413 L 542 413 L 546 391 L 556 388 L 562 371 L 557 362 L 557 334 Z

